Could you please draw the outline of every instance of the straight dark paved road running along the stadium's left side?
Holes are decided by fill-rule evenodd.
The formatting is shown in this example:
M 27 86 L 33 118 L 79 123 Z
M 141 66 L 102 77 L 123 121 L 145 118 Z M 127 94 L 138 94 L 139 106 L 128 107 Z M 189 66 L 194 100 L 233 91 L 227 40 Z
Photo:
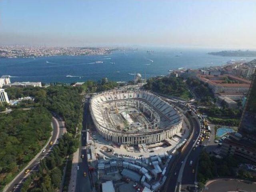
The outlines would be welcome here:
M 87 154 L 86 154 L 86 128 L 88 125 L 88 118 L 89 115 L 89 103 L 86 102 L 84 104 L 84 115 L 83 115 L 83 131 L 81 134 L 81 146 L 79 149 L 80 156 L 84 154 L 84 158 L 79 158 L 79 170 L 77 171 L 76 175 L 76 192 L 91 192 L 91 184 L 90 184 L 90 177 L 89 177 L 89 167 L 87 163 Z M 84 177 L 84 172 L 86 172 L 86 177 Z

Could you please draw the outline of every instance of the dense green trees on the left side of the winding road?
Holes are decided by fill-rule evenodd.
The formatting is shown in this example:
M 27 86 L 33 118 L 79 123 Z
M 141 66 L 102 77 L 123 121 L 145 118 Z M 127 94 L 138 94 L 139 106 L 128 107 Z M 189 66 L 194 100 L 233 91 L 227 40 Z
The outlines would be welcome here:
M 0 186 L 41 150 L 52 130 L 52 115 L 43 107 L 0 114 Z

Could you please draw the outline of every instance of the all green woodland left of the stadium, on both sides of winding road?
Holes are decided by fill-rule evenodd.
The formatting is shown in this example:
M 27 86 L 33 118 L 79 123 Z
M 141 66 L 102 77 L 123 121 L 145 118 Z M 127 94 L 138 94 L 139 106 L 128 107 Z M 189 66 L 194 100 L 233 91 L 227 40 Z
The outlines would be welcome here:
M 91 90 L 108 89 L 115 85 L 106 82 L 98 87 L 91 81 L 85 84 L 92 86 Z M 82 120 L 82 91 L 83 87 L 61 84 L 47 88 L 6 88 L 11 99 L 32 96 L 34 102 L 26 101 L 12 106 L 32 108 L 31 110 L 14 110 L 10 114 L 0 114 L 0 145 L 4 146 L 0 148 L 1 186 L 10 182 L 13 174 L 41 150 L 45 140 L 50 136 L 51 111 L 63 117 L 68 133 L 59 139 L 58 146 L 52 148 L 50 155 L 40 162 L 38 172 L 28 177 L 21 191 L 52 192 L 60 187 L 65 158 L 73 154 L 79 144 L 75 133 Z

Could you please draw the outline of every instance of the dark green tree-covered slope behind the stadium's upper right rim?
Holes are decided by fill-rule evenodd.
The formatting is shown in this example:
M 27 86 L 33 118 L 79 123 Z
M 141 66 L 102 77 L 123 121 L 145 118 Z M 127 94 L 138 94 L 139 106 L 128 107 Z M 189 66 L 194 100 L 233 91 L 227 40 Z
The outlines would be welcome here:
M 183 99 L 191 98 L 186 83 L 181 78 L 176 77 L 156 77 L 147 80 L 144 86 L 147 90 L 181 97 Z

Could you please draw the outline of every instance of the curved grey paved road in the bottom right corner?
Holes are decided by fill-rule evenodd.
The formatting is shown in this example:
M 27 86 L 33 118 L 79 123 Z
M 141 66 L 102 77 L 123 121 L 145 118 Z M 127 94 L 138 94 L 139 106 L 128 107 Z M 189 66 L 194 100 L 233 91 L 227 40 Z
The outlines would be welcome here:
M 211 180 L 206 184 L 206 188 L 203 192 L 237 192 L 237 191 L 246 191 L 246 192 L 256 192 L 256 183 L 237 180 L 237 179 L 218 179 Z

